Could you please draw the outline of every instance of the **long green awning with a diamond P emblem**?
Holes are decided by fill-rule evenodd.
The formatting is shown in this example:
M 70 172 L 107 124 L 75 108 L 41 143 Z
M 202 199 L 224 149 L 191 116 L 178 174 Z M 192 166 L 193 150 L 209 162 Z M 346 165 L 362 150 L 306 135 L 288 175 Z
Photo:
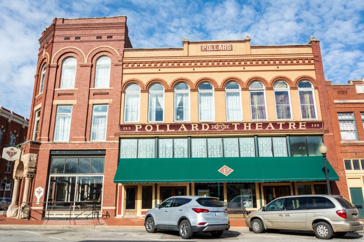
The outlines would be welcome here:
M 329 179 L 339 180 L 329 162 L 327 165 Z M 274 181 L 326 181 L 324 159 L 322 156 L 120 159 L 114 177 L 116 183 Z

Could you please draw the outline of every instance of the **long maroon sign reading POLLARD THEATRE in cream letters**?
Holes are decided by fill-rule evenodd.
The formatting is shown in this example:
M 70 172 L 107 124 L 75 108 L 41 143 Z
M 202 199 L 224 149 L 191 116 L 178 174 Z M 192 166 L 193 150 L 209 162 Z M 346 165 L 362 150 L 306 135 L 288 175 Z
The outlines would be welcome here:
M 323 130 L 322 121 L 261 123 L 120 124 L 120 133 Z

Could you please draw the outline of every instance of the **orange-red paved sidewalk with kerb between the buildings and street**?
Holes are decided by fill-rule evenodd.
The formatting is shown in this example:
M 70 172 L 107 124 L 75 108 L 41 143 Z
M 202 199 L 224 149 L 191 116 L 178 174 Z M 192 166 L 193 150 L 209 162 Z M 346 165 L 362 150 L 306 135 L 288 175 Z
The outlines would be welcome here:
M 244 218 L 230 218 L 230 230 L 248 230 Z M 99 220 L 19 220 L 0 215 L 0 228 L 144 229 L 144 218 L 101 218 Z

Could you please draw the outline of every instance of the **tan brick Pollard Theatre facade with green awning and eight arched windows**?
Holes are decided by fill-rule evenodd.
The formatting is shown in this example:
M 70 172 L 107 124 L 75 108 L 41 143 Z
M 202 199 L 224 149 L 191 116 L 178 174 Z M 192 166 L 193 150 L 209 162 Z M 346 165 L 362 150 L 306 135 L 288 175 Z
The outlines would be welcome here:
M 141 217 L 179 195 L 257 210 L 281 196 L 327 193 L 319 40 L 182 43 L 124 49 L 115 216 Z M 338 194 L 330 163 L 328 171 Z

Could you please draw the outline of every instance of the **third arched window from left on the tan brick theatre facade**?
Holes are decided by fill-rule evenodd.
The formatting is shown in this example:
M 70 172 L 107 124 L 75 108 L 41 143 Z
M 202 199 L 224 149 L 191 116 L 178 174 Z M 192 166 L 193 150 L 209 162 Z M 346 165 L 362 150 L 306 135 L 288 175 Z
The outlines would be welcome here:
M 174 87 L 174 121 L 190 121 L 190 87 L 183 82 Z

